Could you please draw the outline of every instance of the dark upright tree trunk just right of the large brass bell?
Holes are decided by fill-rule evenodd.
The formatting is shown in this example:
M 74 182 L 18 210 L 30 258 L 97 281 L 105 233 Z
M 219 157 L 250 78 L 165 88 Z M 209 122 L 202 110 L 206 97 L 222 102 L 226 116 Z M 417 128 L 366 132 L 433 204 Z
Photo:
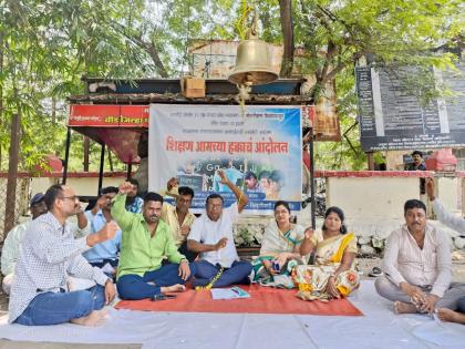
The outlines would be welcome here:
M 291 0 L 279 0 L 279 14 L 285 44 L 279 76 L 290 78 L 293 68 L 293 25 Z

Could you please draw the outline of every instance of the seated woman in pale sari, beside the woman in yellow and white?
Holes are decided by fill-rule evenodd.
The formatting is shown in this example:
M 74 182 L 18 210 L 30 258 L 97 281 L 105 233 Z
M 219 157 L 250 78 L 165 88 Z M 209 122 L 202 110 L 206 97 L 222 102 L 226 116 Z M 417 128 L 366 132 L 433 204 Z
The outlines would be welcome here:
M 292 288 L 288 275 L 297 264 L 302 264 L 300 243 L 303 239 L 303 227 L 290 223 L 289 204 L 278 201 L 275 204 L 275 219 L 268 225 L 261 240 L 260 256 L 252 261 L 254 281 L 269 286 Z M 292 263 L 289 263 L 291 261 Z M 289 267 L 289 268 L 288 268 Z

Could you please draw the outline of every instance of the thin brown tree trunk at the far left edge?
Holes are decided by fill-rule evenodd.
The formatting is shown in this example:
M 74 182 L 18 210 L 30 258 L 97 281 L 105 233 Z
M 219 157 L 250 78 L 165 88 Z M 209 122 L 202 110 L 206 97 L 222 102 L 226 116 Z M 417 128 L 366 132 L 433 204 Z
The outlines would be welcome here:
M 17 197 L 17 177 L 18 177 L 18 156 L 19 156 L 19 140 L 20 140 L 20 114 L 13 114 L 11 120 L 11 135 L 10 135 L 10 162 L 8 166 L 8 182 L 7 182 L 7 205 L 4 207 L 4 236 L 14 226 L 14 211 Z

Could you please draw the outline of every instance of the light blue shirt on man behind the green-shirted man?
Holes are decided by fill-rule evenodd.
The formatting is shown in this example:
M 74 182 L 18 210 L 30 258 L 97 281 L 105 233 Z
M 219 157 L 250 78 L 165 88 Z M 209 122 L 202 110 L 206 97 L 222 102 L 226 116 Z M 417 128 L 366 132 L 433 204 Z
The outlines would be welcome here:
M 103 215 L 102 209 L 100 209 L 95 216 L 92 215 L 91 211 L 86 211 L 84 214 L 89 222 L 90 234 L 95 234 L 105 226 L 106 218 Z M 122 233 L 121 230 L 117 230 L 112 239 L 100 243 L 85 252 L 83 254 L 84 258 L 91 263 L 101 263 L 104 259 L 116 259 L 117 253 L 120 252 L 121 237 Z

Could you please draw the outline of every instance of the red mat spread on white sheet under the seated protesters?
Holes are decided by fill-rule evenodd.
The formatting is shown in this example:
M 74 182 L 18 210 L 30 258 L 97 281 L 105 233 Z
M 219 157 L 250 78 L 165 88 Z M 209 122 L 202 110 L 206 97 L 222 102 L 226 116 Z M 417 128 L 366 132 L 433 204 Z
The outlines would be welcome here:
M 211 299 L 209 290 L 193 290 L 177 294 L 176 299 L 152 301 L 122 300 L 115 308 L 145 311 L 183 312 L 241 312 L 241 314 L 308 314 L 308 315 L 363 315 L 348 299 L 329 302 L 304 301 L 296 297 L 296 289 L 276 289 L 258 285 L 240 286 L 250 294 L 246 299 Z

